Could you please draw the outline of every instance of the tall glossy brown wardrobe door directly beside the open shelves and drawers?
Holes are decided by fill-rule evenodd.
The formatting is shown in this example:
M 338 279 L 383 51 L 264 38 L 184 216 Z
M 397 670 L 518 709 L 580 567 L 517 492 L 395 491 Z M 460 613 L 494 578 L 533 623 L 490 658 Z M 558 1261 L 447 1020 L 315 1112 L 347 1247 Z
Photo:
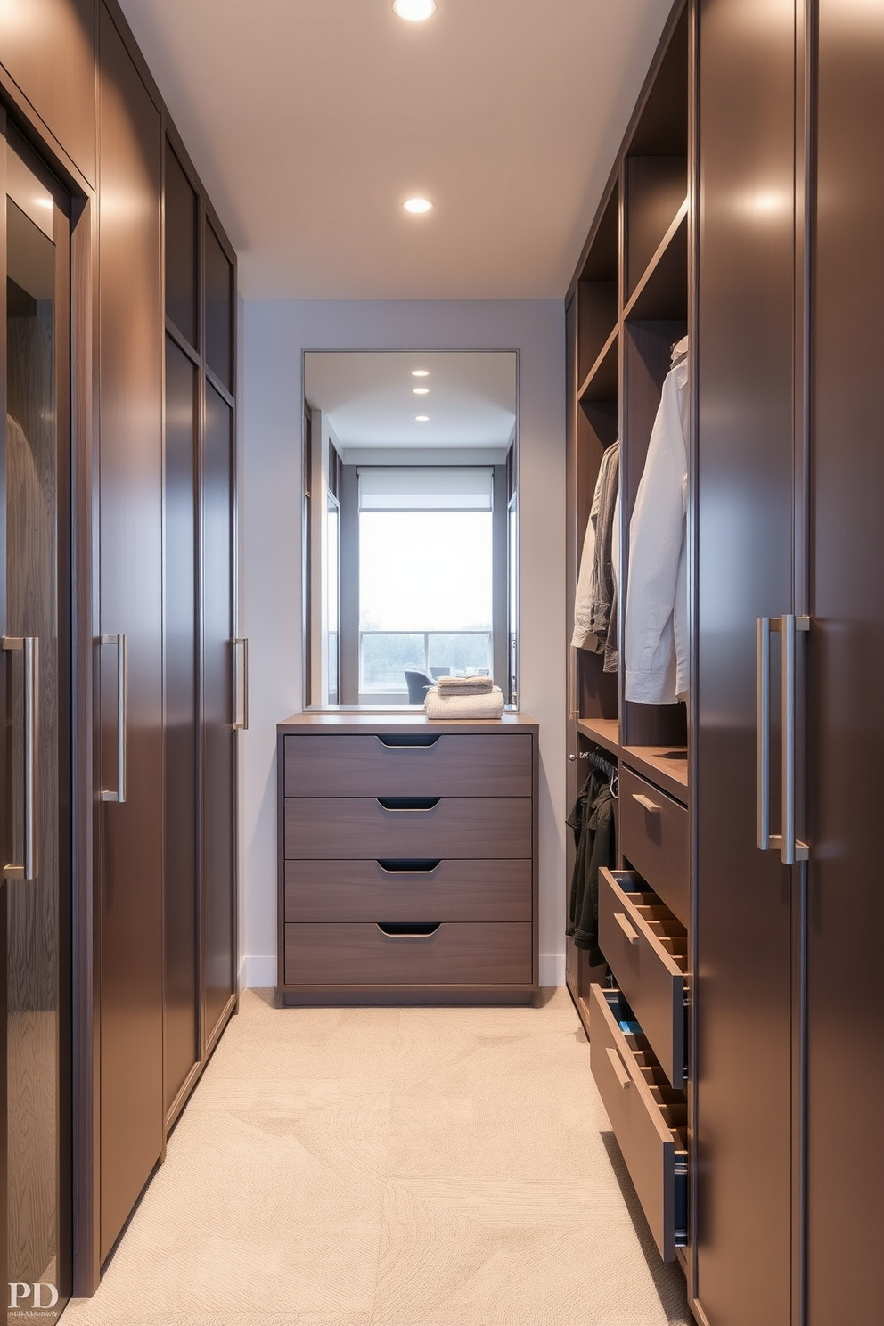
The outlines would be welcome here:
M 791 603 L 794 3 L 700 20 L 697 1297 L 786 1326 L 790 878 L 755 847 L 755 638 Z

